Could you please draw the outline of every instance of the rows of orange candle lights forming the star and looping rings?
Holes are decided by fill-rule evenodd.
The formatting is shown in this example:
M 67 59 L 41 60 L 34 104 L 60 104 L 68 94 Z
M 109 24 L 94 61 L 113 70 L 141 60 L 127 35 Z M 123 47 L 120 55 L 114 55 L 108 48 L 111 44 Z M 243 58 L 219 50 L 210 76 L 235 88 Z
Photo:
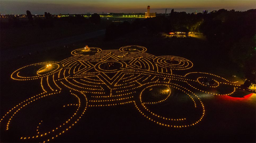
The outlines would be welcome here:
M 130 50 L 129 50 L 130 49 Z M 205 115 L 205 107 L 193 90 L 212 95 L 230 95 L 239 85 L 225 78 L 203 72 L 190 72 L 186 75 L 176 75 L 175 72 L 186 70 L 193 63 L 186 58 L 178 56 L 154 56 L 145 53 L 147 49 L 142 46 L 125 46 L 119 50 L 101 50 L 80 48 L 71 52 L 72 57 L 60 62 L 41 62 L 28 65 L 11 74 L 14 80 L 40 79 L 41 93 L 18 103 L 4 116 L 7 119 L 6 130 L 11 127 L 12 119 L 23 107 L 34 101 L 50 95 L 58 95 L 63 89 L 70 91 L 70 96 L 77 98 L 77 102 L 67 103 L 67 106 L 76 106 L 74 114 L 52 129 L 31 135 L 23 135 L 21 140 L 36 139 L 33 141 L 47 142 L 54 139 L 74 126 L 85 113 L 87 106 L 103 107 L 131 103 L 146 119 L 166 127 L 189 127 L 198 124 Z M 217 86 L 205 86 L 200 78 L 213 79 Z M 165 86 L 168 93 L 160 100 L 144 101 L 143 93 L 146 89 Z M 219 87 L 230 88 L 228 93 L 221 93 Z M 216 93 L 209 92 L 214 88 Z M 150 104 L 168 102 L 171 93 L 180 92 L 191 100 L 188 110 L 195 110 L 196 117 L 169 117 L 158 115 L 151 111 Z M 43 120 L 38 121 L 43 128 Z M 37 129 L 38 130 L 38 129 Z

